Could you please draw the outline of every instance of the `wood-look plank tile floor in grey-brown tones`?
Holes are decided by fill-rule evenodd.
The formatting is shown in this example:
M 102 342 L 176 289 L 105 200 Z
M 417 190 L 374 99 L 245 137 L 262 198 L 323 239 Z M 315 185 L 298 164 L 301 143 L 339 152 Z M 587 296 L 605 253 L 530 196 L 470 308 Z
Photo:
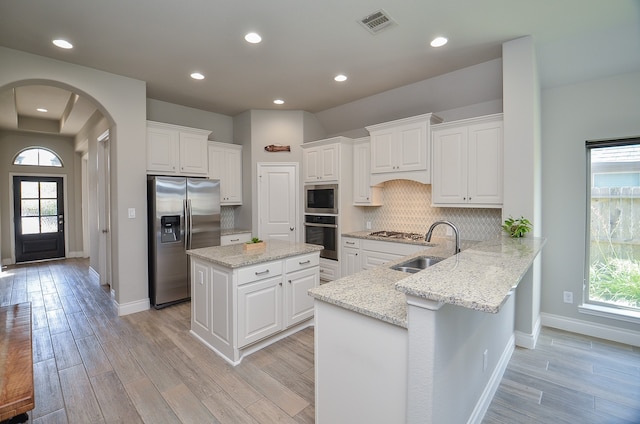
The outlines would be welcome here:
M 232 367 L 189 335 L 188 303 L 118 317 L 82 259 L 3 269 L 0 305 L 21 302 L 30 423 L 314 421 L 313 329 Z M 640 350 L 544 328 L 514 352 L 483 423 L 640 423 Z

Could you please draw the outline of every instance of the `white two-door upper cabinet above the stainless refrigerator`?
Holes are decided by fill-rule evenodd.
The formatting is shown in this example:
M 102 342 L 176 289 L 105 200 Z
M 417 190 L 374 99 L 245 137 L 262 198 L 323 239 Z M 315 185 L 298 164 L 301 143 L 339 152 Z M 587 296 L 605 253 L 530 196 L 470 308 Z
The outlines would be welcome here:
M 147 173 L 206 176 L 211 131 L 147 121 Z

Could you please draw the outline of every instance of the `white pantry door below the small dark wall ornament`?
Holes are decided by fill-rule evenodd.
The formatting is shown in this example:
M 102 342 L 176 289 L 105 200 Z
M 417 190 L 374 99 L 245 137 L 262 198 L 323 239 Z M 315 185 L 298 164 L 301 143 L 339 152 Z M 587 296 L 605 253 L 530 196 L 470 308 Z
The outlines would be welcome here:
M 294 243 L 298 231 L 298 164 L 258 164 L 258 237 Z

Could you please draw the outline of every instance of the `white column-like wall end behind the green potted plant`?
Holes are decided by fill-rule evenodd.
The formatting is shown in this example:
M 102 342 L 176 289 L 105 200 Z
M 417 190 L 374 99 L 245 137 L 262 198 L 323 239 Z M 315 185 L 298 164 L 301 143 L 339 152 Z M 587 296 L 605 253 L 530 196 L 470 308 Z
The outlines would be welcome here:
M 540 204 L 540 83 L 532 37 L 504 43 L 504 204 L 502 219 L 524 216 L 542 234 Z M 540 257 L 516 291 L 518 345 L 535 347 L 540 329 Z

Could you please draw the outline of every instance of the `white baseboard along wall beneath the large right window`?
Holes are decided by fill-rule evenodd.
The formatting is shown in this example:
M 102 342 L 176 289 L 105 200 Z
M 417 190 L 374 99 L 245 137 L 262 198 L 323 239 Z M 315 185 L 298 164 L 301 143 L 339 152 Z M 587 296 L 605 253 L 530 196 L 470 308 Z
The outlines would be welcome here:
M 572 333 L 584 334 L 585 336 L 640 347 L 640 331 L 626 330 L 544 312 L 540 315 L 542 316 L 542 325 L 545 327 L 553 327 Z

